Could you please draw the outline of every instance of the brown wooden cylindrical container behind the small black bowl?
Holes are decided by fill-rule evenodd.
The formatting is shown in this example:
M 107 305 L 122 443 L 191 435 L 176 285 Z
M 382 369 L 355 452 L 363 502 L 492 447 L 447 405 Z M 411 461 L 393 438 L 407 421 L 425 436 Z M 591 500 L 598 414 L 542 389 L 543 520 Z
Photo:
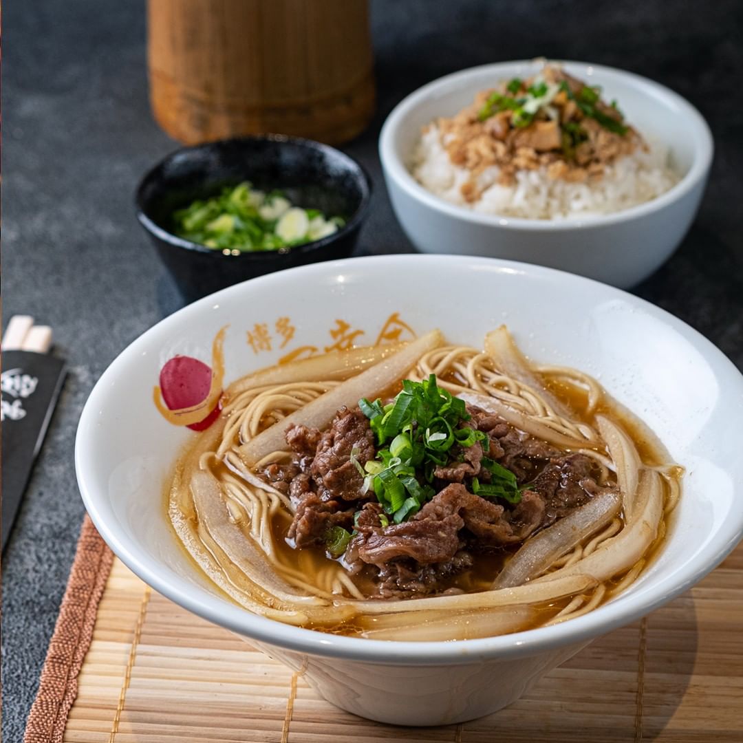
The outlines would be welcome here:
M 183 143 L 337 144 L 374 113 L 366 0 L 149 0 L 148 21 L 152 111 Z

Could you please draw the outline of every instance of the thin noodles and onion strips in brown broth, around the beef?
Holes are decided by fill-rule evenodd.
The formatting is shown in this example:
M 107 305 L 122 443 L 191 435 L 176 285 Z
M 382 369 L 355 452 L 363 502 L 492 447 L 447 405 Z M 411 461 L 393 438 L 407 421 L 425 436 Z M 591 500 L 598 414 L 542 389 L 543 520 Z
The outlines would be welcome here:
M 441 389 L 468 405 L 562 452 L 591 458 L 597 485 L 618 492 L 592 499 L 594 508 L 601 508 L 600 498 L 606 500 L 603 521 L 581 526 L 580 519 L 590 520 L 590 514 L 588 507 L 583 513 L 579 508 L 517 549 L 478 554 L 470 570 L 441 584 L 449 590 L 420 598 L 369 598 L 370 585 L 351 574 L 343 559 L 288 543 L 296 504 L 260 475 L 267 465 L 291 458 L 288 446 L 267 451 L 253 446 L 264 432 L 283 435 L 287 421 L 301 420 L 313 406 L 322 408 L 330 393 L 340 399 L 344 385 L 369 374 L 344 379 L 336 366 L 325 380 L 307 381 L 299 364 L 295 379 L 284 372 L 282 383 L 265 383 L 262 372 L 255 375 L 258 386 L 249 376 L 228 388 L 217 423 L 198 436 L 176 467 L 169 516 L 201 569 L 256 614 L 379 639 L 456 640 L 516 632 L 579 617 L 626 591 L 663 538 L 678 501 L 681 468 L 595 380 L 574 369 L 530 365 L 505 328 L 488 334 L 484 351 L 443 345 L 440 336 L 423 345 L 388 381 L 383 398 L 399 391 L 403 377 L 419 381 L 434 374 Z M 382 384 L 383 377 L 376 382 Z M 251 446 L 260 454 L 253 461 Z M 613 506 L 611 497 L 618 498 Z M 562 531 L 583 528 L 585 536 L 565 549 L 561 524 Z

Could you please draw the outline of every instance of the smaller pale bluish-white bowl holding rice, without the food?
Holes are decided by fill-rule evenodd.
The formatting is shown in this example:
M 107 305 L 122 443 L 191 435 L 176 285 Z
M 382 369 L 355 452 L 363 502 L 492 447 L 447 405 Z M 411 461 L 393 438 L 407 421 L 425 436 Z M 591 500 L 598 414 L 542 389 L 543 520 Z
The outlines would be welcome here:
M 585 62 L 565 70 L 601 85 L 617 99 L 626 120 L 649 141 L 669 149 L 681 180 L 658 198 L 608 215 L 523 219 L 483 214 L 450 204 L 411 175 L 421 128 L 469 106 L 478 91 L 501 80 L 529 77 L 539 62 L 499 62 L 447 75 L 403 99 L 387 118 L 379 140 L 392 207 L 405 233 L 424 253 L 464 253 L 561 268 L 626 288 L 637 284 L 678 247 L 701 200 L 712 162 L 712 135 L 701 114 L 669 88 L 645 77 Z

